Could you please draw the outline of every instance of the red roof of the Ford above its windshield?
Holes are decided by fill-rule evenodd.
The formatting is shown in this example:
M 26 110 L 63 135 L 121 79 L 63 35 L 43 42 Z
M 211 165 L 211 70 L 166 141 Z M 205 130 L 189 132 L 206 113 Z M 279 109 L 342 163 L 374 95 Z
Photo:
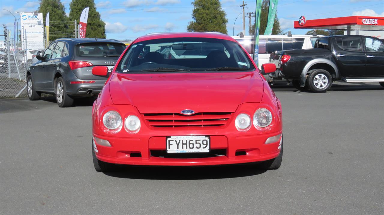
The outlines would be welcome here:
M 151 39 L 163 39 L 163 38 L 215 38 L 215 39 L 226 39 L 230 41 L 235 41 L 232 37 L 227 34 L 218 33 L 218 32 L 184 32 L 184 33 L 150 33 L 144 36 L 137 38 L 134 43 L 151 40 Z

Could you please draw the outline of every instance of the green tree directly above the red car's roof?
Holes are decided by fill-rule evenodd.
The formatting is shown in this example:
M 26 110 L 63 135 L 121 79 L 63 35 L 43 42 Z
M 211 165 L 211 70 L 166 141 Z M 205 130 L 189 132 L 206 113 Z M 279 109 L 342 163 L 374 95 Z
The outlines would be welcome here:
M 194 21 L 188 23 L 187 31 L 217 31 L 227 34 L 228 20 L 219 0 L 195 0 L 192 5 Z

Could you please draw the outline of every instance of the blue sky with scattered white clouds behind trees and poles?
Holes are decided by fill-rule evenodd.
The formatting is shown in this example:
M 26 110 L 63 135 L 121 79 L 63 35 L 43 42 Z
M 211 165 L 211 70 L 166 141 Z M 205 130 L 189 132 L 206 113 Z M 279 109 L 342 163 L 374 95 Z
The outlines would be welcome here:
M 69 13 L 71 0 L 62 0 Z M 107 38 L 135 39 L 151 32 L 185 32 L 192 21 L 192 0 L 95 0 L 101 19 L 106 23 Z M 233 23 L 242 13 L 241 0 L 222 0 L 227 13 L 228 34 L 233 33 Z M 245 12 L 254 12 L 256 0 L 245 1 Z M 38 0 L 1 0 L 0 24 L 13 29 L 14 17 L 5 10 L 33 11 L 39 6 Z M 18 14 L 14 14 L 18 18 Z M 293 28 L 293 21 L 300 16 L 307 20 L 340 16 L 366 15 L 384 16 L 384 0 L 279 0 L 277 15 L 283 31 L 305 34 L 308 30 Z M 54 21 L 54 20 L 51 20 Z M 246 30 L 248 30 L 246 18 Z M 253 20 L 252 20 L 253 23 Z M 20 28 L 19 28 L 20 29 Z M 242 31 L 242 16 L 235 23 L 235 34 Z M 248 31 L 247 34 L 248 35 Z

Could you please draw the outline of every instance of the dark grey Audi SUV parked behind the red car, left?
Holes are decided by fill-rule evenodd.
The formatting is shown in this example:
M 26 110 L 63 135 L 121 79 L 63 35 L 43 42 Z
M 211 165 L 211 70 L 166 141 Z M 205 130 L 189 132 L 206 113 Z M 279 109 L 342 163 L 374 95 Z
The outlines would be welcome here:
M 98 95 L 108 77 L 92 75 L 93 66 L 108 66 L 111 72 L 125 48 L 113 39 L 56 39 L 28 68 L 28 98 L 53 94 L 59 107 L 70 107 L 76 98 Z

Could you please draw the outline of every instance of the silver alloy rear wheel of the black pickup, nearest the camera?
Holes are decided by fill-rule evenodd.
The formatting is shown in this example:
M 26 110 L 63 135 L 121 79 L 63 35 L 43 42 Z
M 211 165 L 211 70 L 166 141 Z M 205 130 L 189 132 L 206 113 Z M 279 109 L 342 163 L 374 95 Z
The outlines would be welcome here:
M 313 69 L 307 78 L 307 84 L 312 92 L 327 92 L 332 85 L 332 76 L 324 69 Z

